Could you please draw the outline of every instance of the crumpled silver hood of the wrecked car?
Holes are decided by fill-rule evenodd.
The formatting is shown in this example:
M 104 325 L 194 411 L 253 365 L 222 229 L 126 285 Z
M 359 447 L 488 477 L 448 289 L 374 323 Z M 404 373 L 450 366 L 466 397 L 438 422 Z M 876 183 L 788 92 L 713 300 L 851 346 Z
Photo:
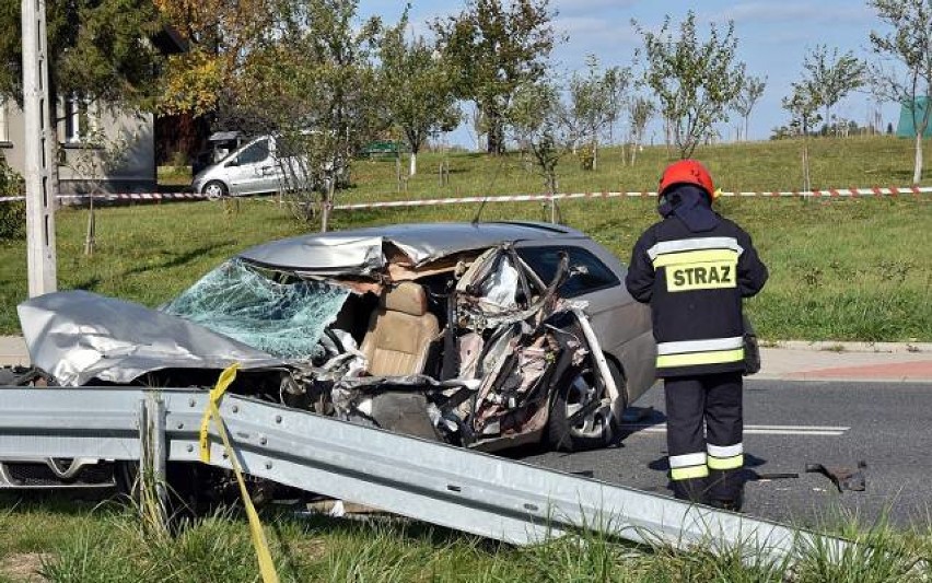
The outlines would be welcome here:
M 234 362 L 287 364 L 178 316 L 91 292 L 49 293 L 16 310 L 33 364 L 61 385 L 121 384 L 163 369 L 221 370 Z

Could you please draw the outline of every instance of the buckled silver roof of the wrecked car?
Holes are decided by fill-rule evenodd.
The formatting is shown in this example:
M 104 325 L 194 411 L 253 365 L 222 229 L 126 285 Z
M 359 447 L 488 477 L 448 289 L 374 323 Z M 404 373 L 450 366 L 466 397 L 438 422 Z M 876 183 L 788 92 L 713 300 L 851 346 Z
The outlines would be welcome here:
M 266 243 L 240 254 L 246 261 L 293 270 L 337 272 L 385 263 L 382 246 L 392 243 L 415 265 L 503 242 L 584 238 L 568 226 L 536 222 L 403 223 L 301 235 Z

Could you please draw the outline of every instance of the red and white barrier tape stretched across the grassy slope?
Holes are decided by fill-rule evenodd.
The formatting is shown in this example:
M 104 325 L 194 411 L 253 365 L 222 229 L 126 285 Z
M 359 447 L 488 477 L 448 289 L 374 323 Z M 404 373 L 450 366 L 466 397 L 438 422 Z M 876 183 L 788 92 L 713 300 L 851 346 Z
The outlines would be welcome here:
M 734 198 L 855 198 L 855 197 L 884 197 L 902 195 L 932 194 L 929 186 L 906 186 L 901 188 L 829 188 L 825 190 L 811 191 L 748 191 L 748 193 L 722 193 L 723 197 Z M 336 205 L 334 210 L 362 210 L 362 209 L 392 209 L 404 207 L 436 207 L 442 205 L 469 205 L 481 202 L 549 202 L 551 200 L 576 200 L 584 198 L 641 198 L 656 197 L 656 193 L 563 193 L 558 195 L 503 195 L 487 197 L 459 197 L 459 198 L 426 198 L 420 200 L 392 200 L 386 202 L 360 202 L 354 205 Z M 117 195 L 93 195 L 94 200 L 104 202 L 114 201 L 160 201 L 160 200 L 206 200 L 206 195 L 194 193 L 137 193 Z M 91 195 L 59 195 L 58 199 L 67 201 L 83 201 Z M 0 197 L 0 202 L 13 202 L 25 200 L 25 197 Z

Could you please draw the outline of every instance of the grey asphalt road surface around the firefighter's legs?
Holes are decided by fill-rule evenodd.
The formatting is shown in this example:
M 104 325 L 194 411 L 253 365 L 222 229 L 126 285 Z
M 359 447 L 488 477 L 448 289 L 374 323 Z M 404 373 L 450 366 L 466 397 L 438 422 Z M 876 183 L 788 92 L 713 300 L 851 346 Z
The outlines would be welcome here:
M 626 425 L 616 447 L 578 454 L 531 453 L 532 464 L 671 494 L 666 478 L 663 390 L 636 407 L 649 417 Z M 629 411 L 630 415 L 631 411 Z M 932 527 L 932 384 L 745 383 L 745 475 L 799 473 L 799 479 L 753 480 L 745 512 L 801 526 L 887 515 L 898 526 Z M 839 493 L 806 464 L 857 468 L 866 490 Z

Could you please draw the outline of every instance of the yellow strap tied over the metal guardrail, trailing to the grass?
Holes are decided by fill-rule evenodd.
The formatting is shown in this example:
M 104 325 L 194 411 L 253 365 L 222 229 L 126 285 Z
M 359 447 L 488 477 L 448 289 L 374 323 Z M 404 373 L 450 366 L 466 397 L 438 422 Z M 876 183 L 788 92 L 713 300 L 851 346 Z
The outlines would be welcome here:
M 226 425 L 220 417 L 220 408 L 218 404 L 223 398 L 226 388 L 236 378 L 236 371 L 240 364 L 233 364 L 220 374 L 217 381 L 217 386 L 210 390 L 210 399 L 205 411 L 203 421 L 200 425 L 200 458 L 205 463 L 210 462 L 210 443 L 208 442 L 208 429 L 210 419 L 213 418 L 213 423 L 217 427 L 217 432 L 223 441 L 223 448 L 226 451 L 226 457 L 230 458 L 230 465 L 233 466 L 233 474 L 236 476 L 236 483 L 240 485 L 240 495 L 243 498 L 243 505 L 246 506 L 246 516 L 249 520 L 249 534 L 253 537 L 253 548 L 256 549 L 256 559 L 259 561 L 259 573 L 263 575 L 265 583 L 278 583 L 278 572 L 275 569 L 275 562 L 271 559 L 269 544 L 266 540 L 266 533 L 263 530 L 263 523 L 259 521 L 259 514 L 253 505 L 253 500 L 249 498 L 249 492 L 246 490 L 246 482 L 243 480 L 243 473 L 240 469 L 240 463 L 236 460 L 236 454 L 233 446 L 230 444 L 230 435 L 226 433 Z

